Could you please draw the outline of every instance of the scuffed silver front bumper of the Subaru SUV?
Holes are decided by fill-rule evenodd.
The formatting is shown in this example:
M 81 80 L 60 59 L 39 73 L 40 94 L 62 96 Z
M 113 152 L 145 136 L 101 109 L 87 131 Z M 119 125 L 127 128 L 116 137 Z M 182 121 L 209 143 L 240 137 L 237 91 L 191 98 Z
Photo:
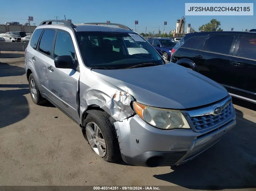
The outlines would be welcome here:
M 225 125 L 207 132 L 162 130 L 137 115 L 115 122 L 122 159 L 136 166 L 157 167 L 185 163 L 217 143 L 236 124 L 235 112 Z

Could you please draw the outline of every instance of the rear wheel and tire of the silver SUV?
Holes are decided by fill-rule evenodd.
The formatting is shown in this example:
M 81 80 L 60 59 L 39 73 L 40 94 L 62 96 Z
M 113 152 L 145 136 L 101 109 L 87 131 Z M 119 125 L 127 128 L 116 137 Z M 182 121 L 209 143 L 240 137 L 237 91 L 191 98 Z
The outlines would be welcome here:
M 41 96 L 40 91 L 38 90 L 38 86 L 36 84 L 35 77 L 34 77 L 33 73 L 31 73 L 29 75 L 28 85 L 29 85 L 29 91 L 30 91 L 32 101 L 35 104 L 42 105 L 43 103 L 45 103 L 47 101 L 45 98 L 43 98 Z

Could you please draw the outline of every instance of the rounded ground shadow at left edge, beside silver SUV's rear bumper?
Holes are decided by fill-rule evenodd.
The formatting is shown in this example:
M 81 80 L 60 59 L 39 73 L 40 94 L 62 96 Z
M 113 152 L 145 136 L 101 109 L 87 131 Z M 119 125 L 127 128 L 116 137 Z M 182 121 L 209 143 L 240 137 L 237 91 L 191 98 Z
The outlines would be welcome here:
M 25 74 L 24 68 L 0 62 L 0 77 L 21 76 L 23 74 Z

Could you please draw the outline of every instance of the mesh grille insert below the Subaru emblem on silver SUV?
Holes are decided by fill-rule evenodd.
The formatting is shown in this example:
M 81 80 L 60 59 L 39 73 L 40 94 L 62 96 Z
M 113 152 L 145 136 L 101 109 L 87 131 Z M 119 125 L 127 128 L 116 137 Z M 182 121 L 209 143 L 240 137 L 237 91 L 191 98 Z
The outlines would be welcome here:
M 201 116 L 193 116 L 190 117 L 194 127 L 198 131 L 202 131 L 205 129 L 212 128 L 214 126 L 218 126 L 219 124 L 226 121 L 229 117 L 232 116 L 233 113 L 233 105 L 232 102 L 227 105 L 224 104 L 224 109 L 221 111 L 219 115 L 201 115 Z

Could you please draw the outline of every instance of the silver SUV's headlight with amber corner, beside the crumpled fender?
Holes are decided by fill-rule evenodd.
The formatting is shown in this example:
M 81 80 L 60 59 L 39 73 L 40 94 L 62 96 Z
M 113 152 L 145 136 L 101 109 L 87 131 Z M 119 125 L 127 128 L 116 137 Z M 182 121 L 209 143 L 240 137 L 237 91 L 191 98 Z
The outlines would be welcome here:
M 167 110 L 133 102 L 133 108 L 145 122 L 159 129 L 190 129 L 187 120 L 179 110 Z

